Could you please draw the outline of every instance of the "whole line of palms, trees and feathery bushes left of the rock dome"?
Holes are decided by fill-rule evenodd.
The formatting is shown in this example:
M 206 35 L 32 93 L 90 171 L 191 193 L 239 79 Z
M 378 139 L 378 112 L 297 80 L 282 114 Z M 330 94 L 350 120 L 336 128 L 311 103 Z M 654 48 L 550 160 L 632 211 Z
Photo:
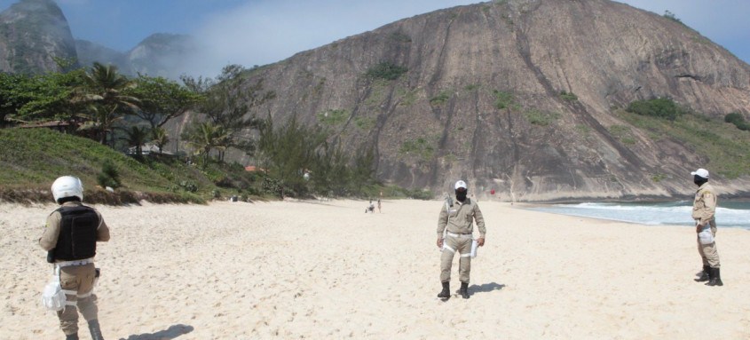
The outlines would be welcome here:
M 193 111 L 200 115 L 179 137 L 203 170 L 210 162 L 225 162 L 232 147 L 257 159 L 259 186 L 268 194 L 363 195 L 376 184 L 372 148 L 356 150 L 352 158 L 318 125 L 305 126 L 296 117 L 273 122 L 270 112 L 258 118 L 256 108 L 276 95 L 264 90 L 262 80 L 243 77 L 244 67 L 229 65 L 216 78 L 183 76 L 177 83 L 148 75 L 130 78 L 97 62 L 75 69 L 59 63 L 63 72 L 0 73 L 0 128 L 65 123 L 68 133 L 121 151 L 134 149 L 141 159 L 146 144 L 161 153 L 170 142 L 165 123 Z

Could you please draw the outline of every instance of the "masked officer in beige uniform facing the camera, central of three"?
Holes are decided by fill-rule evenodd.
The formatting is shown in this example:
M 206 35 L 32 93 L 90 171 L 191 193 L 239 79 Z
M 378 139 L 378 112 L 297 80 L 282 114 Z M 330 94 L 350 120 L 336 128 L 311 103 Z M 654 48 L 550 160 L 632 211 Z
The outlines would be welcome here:
M 460 180 L 455 183 L 455 202 L 448 198 L 440 210 L 438 217 L 438 248 L 442 248 L 440 255 L 440 282 L 443 290 L 438 297 L 449 298 L 451 265 L 455 253 L 460 255 L 459 280 L 461 289 L 459 293 L 463 298 L 469 298 L 469 273 L 471 271 L 471 241 L 473 241 L 473 225 L 477 222 L 479 230 L 478 246 L 485 245 L 485 218 L 479 210 L 477 202 L 466 197 L 469 189 L 466 182 Z M 444 234 L 445 232 L 445 234 Z

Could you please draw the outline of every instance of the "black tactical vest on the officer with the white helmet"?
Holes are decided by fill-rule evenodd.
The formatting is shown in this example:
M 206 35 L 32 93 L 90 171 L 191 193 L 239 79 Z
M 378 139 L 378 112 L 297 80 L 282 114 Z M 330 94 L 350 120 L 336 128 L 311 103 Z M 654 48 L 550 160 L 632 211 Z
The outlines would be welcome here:
M 54 258 L 61 261 L 81 260 L 97 253 L 97 229 L 99 216 L 86 207 L 62 207 L 58 243 Z

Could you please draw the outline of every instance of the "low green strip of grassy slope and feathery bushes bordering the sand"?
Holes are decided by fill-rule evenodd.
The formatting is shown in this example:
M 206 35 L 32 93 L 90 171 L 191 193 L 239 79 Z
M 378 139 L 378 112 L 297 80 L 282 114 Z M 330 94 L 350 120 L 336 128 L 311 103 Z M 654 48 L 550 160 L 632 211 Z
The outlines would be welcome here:
M 273 131 L 273 132 L 271 132 Z M 386 189 L 374 179 L 372 150 L 354 159 L 340 146 L 324 145 L 322 135 L 296 124 L 273 129 L 263 138 L 264 169 L 249 172 L 239 164 L 209 159 L 152 154 L 130 157 L 87 139 L 47 129 L 0 130 L 0 201 L 51 202 L 55 178 L 83 180 L 90 203 L 197 202 L 237 196 L 273 199 L 280 196 L 374 197 Z M 312 176 L 304 178 L 302 170 Z M 114 187 L 114 194 L 102 187 Z M 391 187 L 393 194 L 414 194 Z

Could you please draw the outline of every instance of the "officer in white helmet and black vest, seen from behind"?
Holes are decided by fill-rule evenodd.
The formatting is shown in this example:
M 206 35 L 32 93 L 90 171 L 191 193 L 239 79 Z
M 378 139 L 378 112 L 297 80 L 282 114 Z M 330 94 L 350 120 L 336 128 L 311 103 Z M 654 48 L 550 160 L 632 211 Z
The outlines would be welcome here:
M 60 207 L 47 217 L 39 245 L 47 250 L 47 262 L 55 265 L 55 274 L 66 294 L 65 308 L 57 312 L 66 340 L 78 340 L 78 311 L 88 321 L 91 339 L 102 340 L 99 328 L 94 280 L 97 241 L 109 241 L 109 228 L 99 211 L 84 206 L 81 180 L 72 176 L 57 178 L 52 196 Z

